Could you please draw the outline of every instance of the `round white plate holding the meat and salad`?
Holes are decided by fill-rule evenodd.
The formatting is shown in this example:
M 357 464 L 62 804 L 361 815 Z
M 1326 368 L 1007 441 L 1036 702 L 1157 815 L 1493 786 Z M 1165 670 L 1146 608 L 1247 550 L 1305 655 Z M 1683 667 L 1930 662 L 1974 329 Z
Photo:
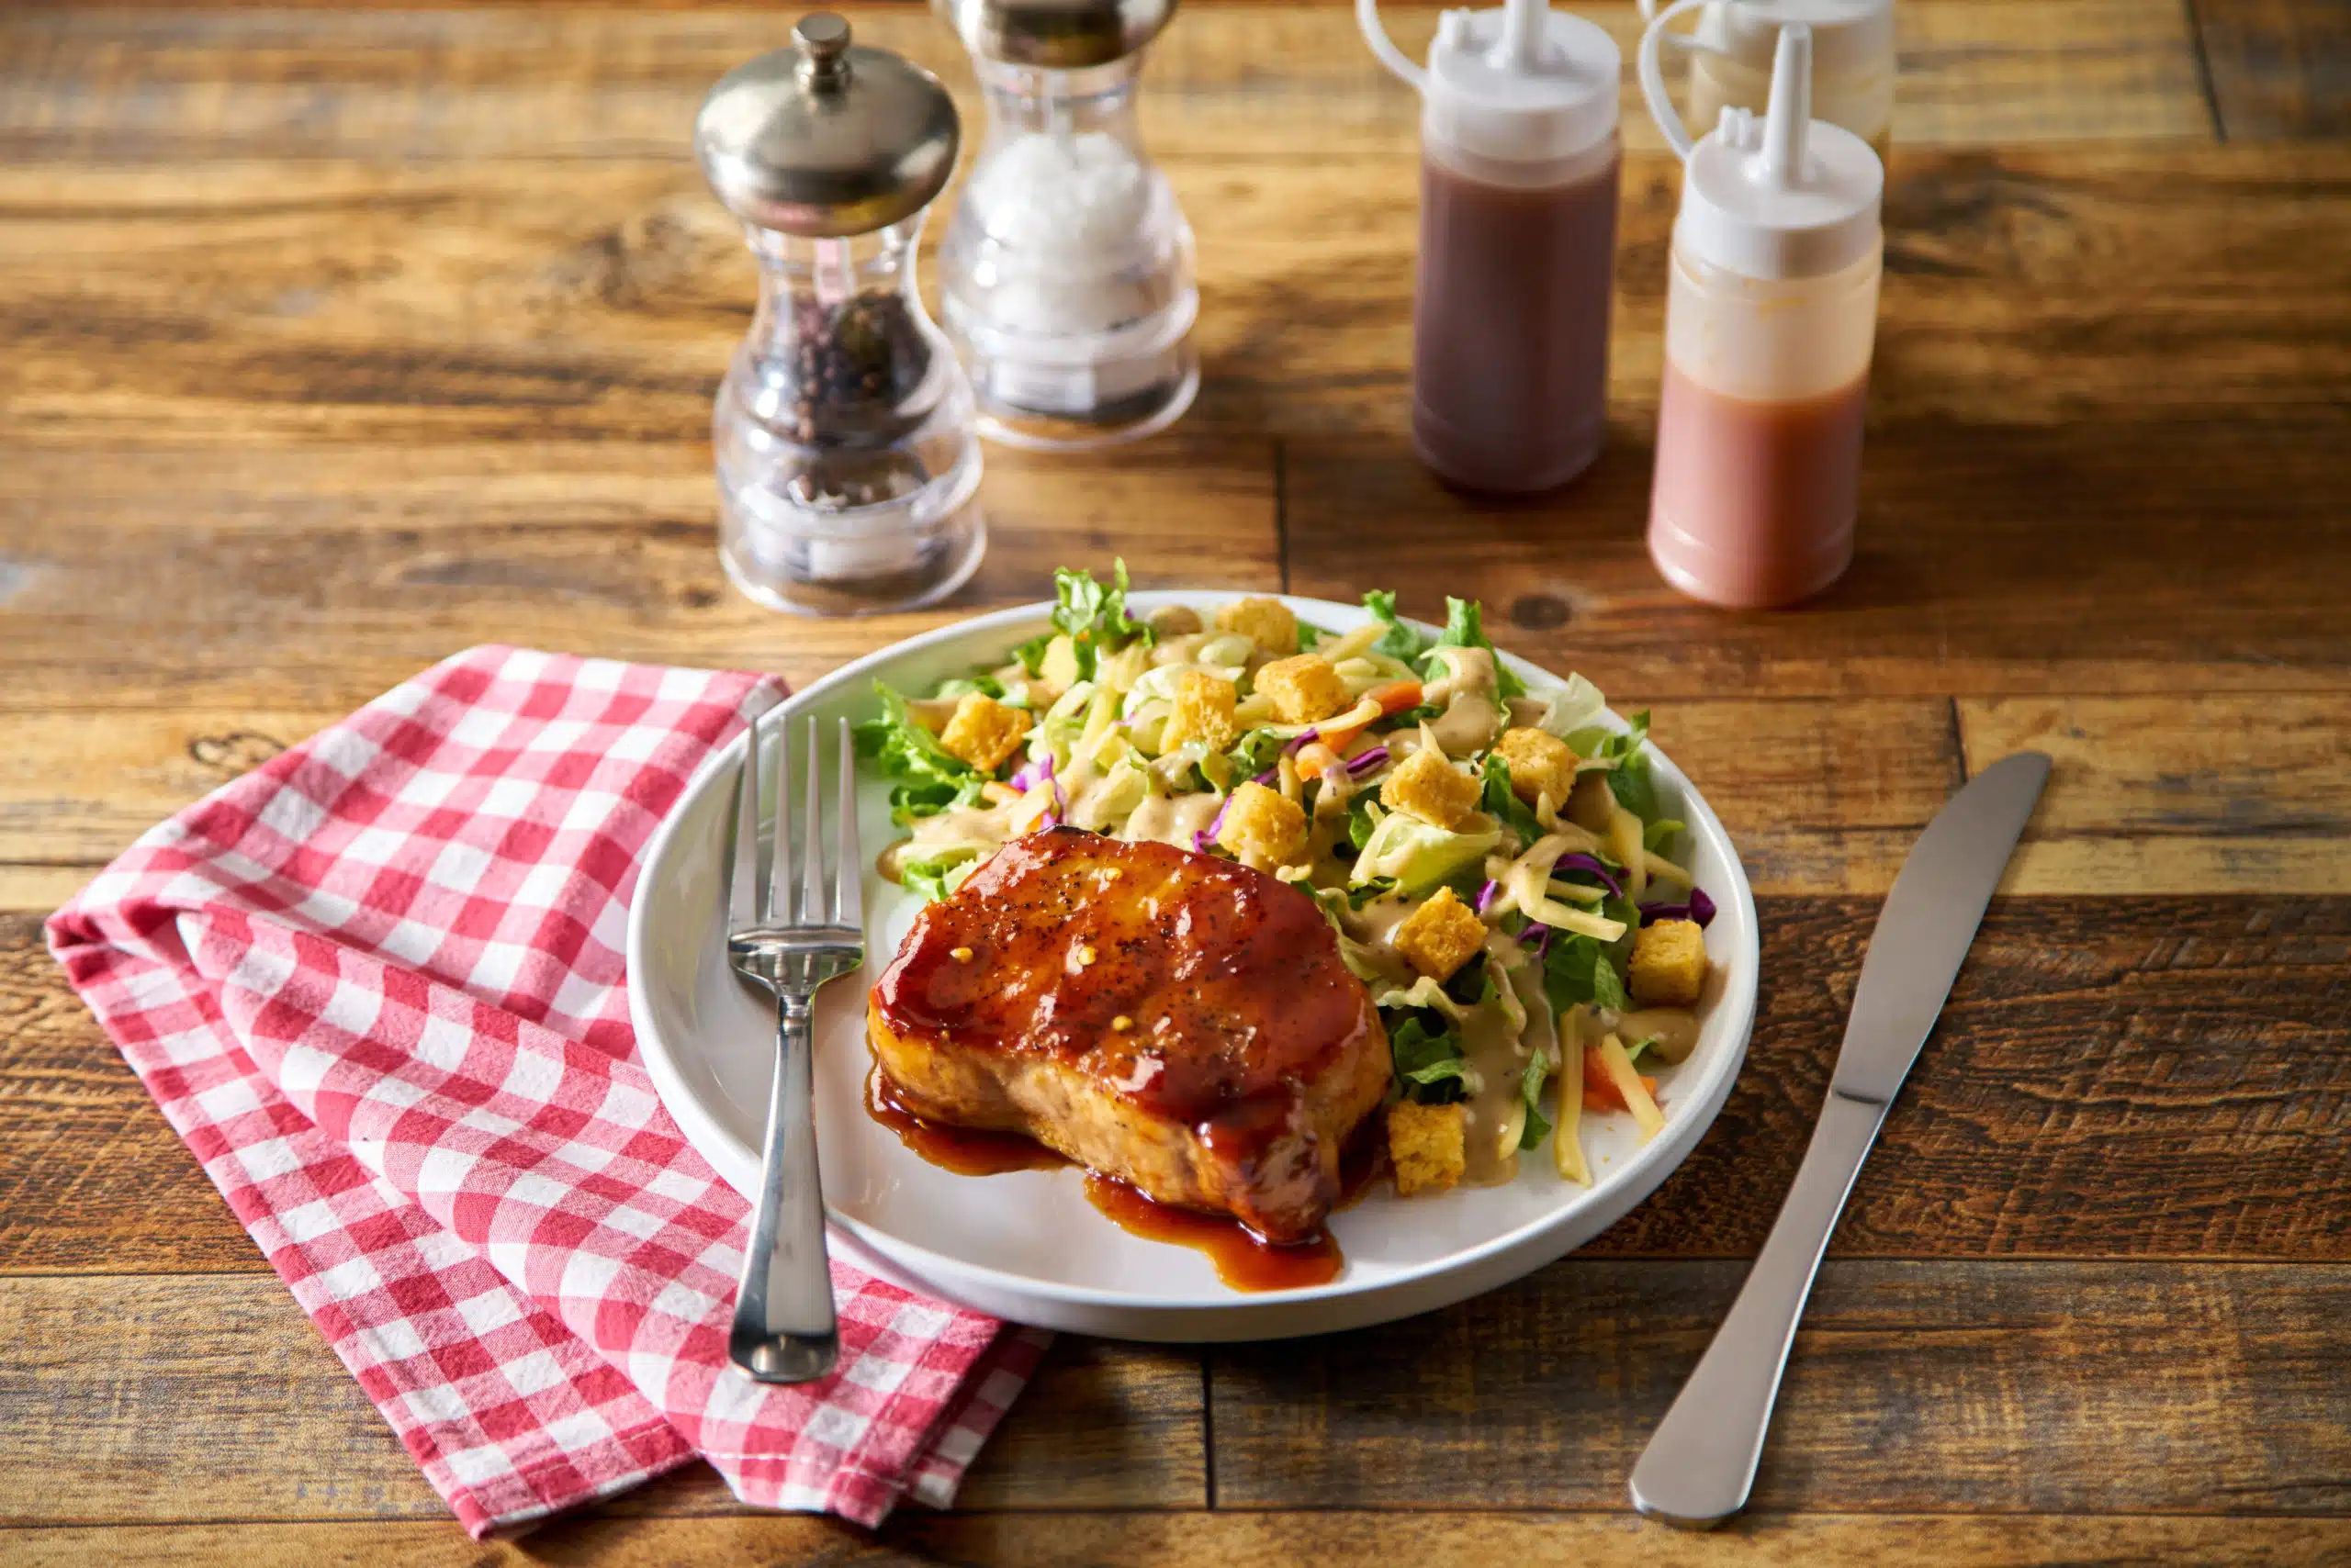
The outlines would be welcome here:
M 1213 611 L 1232 592 L 1138 592 L 1133 604 Z M 1302 618 L 1349 630 L 1366 611 L 1286 599 Z M 1051 607 L 1030 604 L 912 637 L 795 693 L 785 712 L 872 717 L 872 682 L 926 691 L 933 682 L 1002 663 Z M 1545 696 L 1559 682 L 1509 658 Z M 1674 715 L 1660 715 L 1672 733 Z M 1608 724 L 1620 724 L 1608 715 Z M 654 837 L 628 922 L 630 1013 L 663 1103 L 696 1150 L 743 1194 L 759 1180 L 759 1135 L 773 1072 L 773 1004 L 726 969 L 724 863 L 743 741 L 717 752 Z M 1328 1333 L 1429 1312 L 1507 1284 L 1582 1246 L 1639 1204 L 1683 1161 L 1730 1093 L 1756 1004 L 1756 912 L 1723 825 L 1697 790 L 1655 755 L 1660 795 L 1688 823 L 1690 870 L 1721 914 L 1707 929 L 1714 959 L 1700 1009 L 1700 1044 L 1660 1074 L 1665 1131 L 1639 1143 L 1632 1117 L 1585 1121 L 1594 1185 L 1556 1175 L 1549 1150 L 1519 1161 L 1502 1187 L 1404 1201 L 1380 1187 L 1333 1215 L 1345 1253 L 1338 1279 L 1305 1291 L 1232 1291 L 1194 1248 L 1145 1241 L 1103 1218 L 1077 1171 L 955 1175 L 931 1166 L 863 1107 L 870 1058 L 865 990 L 898 950 L 919 900 L 882 882 L 872 858 L 891 842 L 889 788 L 858 792 L 865 837 L 868 969 L 825 987 L 816 1009 L 816 1126 L 837 1253 L 910 1288 L 994 1316 L 1131 1340 L 1267 1340 Z M 773 766 L 773 764 L 769 764 Z

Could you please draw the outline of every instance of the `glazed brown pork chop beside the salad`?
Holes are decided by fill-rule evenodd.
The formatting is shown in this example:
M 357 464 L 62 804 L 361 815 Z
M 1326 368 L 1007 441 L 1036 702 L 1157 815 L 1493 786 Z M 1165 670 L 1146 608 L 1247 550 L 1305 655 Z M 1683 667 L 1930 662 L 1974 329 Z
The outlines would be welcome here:
M 1027 1133 L 1270 1241 L 1321 1225 L 1389 1077 L 1312 898 L 1074 827 L 1006 844 L 915 919 L 868 1039 L 915 1114 Z

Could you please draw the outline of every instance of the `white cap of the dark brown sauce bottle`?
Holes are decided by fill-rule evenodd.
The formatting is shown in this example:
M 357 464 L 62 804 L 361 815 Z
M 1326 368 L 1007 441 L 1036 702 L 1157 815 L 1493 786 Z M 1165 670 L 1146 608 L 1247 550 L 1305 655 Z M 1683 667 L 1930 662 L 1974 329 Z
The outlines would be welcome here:
M 1451 9 L 1436 19 L 1427 71 L 1380 31 L 1375 0 L 1357 0 L 1373 52 L 1427 99 L 1427 134 L 1498 162 L 1575 158 L 1617 127 L 1625 56 L 1592 21 L 1545 0 Z

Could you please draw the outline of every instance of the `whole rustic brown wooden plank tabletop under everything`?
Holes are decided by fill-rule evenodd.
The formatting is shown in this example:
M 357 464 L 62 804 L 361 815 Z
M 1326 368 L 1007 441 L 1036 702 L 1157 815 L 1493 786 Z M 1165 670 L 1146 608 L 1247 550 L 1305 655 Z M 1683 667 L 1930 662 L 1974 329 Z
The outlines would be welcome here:
M 1629 5 L 1594 14 L 1629 42 Z M 1199 407 L 1103 458 L 990 451 L 959 602 L 818 623 L 717 569 L 710 395 L 752 270 L 684 153 L 785 12 L 9 12 L 0 1559 L 2344 1561 L 2346 16 L 1902 0 L 1862 555 L 1820 604 L 1726 616 L 1641 552 L 1674 205 L 1648 122 L 1613 447 L 1472 505 L 1401 440 L 1411 99 L 1345 9 L 1187 9 L 1145 122 L 1199 228 Z M 924 12 L 858 31 L 969 106 Z M 1474 592 L 1655 705 L 1763 914 L 1721 1121 L 1601 1241 L 1451 1312 L 1065 1338 L 955 1514 L 868 1537 L 694 1469 L 465 1542 L 40 914 L 470 642 L 806 682 L 1112 552 L 1145 585 Z M 2020 745 L 2057 776 L 1836 1234 L 1756 1507 L 1646 1526 L 1625 1472 L 1787 1187 L 1876 900 Z

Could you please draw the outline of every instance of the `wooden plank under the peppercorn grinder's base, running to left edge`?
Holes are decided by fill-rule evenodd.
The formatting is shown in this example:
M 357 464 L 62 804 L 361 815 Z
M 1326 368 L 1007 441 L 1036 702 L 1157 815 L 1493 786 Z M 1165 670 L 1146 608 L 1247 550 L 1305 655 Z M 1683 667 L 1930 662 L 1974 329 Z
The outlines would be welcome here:
M 0 538 L 16 571 L 0 670 L 47 689 L 0 682 L 0 708 L 14 689 L 19 705 L 324 719 L 475 642 L 806 684 L 976 609 L 1051 599 L 1058 564 L 1124 555 L 1145 588 L 1281 581 L 1270 447 L 1246 440 L 992 454 L 980 574 L 943 609 L 868 621 L 736 595 L 708 451 L 675 442 L 0 454 L 0 512 L 59 494 L 75 527 Z

